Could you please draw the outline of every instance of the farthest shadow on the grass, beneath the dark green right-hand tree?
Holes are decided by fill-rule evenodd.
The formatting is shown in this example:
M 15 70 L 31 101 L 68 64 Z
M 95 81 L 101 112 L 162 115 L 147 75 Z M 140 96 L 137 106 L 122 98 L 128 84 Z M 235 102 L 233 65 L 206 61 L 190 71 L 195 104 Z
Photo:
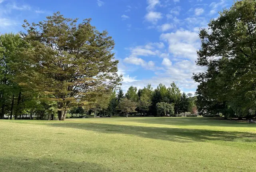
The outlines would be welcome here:
M 200 119 L 198 119 L 200 118 Z M 247 121 L 241 123 L 234 120 L 220 120 L 216 118 L 206 117 L 155 117 L 152 118 L 132 118 L 127 119 L 129 122 L 138 122 L 144 124 L 163 124 L 163 125 L 176 125 L 176 126 L 230 126 L 230 127 L 256 127 L 254 124 L 249 124 Z

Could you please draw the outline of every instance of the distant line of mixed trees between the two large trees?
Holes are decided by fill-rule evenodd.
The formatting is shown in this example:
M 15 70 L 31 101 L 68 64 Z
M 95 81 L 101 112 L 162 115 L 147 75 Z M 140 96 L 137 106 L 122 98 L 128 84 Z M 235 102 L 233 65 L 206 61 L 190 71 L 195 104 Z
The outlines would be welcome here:
M 97 104 L 97 108 L 85 112 L 82 107 L 73 108 L 70 113 L 74 116 L 94 113 L 98 116 L 185 116 L 186 112 L 196 114 L 196 96 L 180 92 L 172 82 L 170 87 L 159 84 L 153 89 L 150 84 L 143 89 L 130 86 L 126 94 L 122 88 L 114 90 L 110 99 Z

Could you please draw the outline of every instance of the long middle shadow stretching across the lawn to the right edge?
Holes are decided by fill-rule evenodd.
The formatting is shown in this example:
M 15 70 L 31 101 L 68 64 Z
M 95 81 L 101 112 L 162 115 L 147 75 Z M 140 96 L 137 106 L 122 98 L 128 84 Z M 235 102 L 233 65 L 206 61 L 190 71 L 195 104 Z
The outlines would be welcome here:
M 175 142 L 206 142 L 208 140 L 255 142 L 256 134 L 249 132 L 222 132 L 202 129 L 159 128 L 125 126 L 98 123 L 53 123 L 54 127 L 77 128 L 108 134 L 129 134 L 142 138 L 152 138 Z M 86 133 L 85 133 L 86 134 Z

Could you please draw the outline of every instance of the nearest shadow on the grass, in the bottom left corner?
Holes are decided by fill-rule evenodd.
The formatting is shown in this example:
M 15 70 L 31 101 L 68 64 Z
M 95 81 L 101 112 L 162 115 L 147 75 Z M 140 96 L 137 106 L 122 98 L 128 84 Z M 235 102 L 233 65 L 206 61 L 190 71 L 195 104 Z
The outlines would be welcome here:
M 1 172 L 108 172 L 101 164 L 70 162 L 56 158 L 4 157 L 0 160 Z

